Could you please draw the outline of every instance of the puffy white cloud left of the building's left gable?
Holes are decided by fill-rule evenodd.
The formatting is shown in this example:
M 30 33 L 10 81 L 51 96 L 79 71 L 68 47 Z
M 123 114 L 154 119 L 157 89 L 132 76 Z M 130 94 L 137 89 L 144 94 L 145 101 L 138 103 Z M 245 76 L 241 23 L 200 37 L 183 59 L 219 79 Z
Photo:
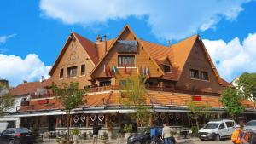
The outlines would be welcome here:
M 45 66 L 35 54 L 26 55 L 25 59 L 0 54 L 0 78 L 8 79 L 12 86 L 22 83 L 23 80 L 38 81 L 41 76 L 49 78 L 50 67 Z

